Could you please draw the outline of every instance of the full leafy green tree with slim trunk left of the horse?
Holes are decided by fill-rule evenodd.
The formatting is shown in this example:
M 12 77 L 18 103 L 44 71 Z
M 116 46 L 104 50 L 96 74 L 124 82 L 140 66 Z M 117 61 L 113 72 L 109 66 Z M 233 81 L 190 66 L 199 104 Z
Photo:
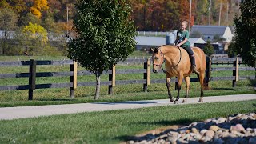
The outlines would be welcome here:
M 130 1 L 79 0 L 69 57 L 96 76 L 94 99 L 99 98 L 100 76 L 134 51 L 136 27 L 130 19 Z

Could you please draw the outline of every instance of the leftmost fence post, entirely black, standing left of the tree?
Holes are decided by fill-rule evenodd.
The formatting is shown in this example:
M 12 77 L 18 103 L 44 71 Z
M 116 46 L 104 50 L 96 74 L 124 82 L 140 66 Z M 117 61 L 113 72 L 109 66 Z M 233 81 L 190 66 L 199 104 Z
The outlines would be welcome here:
M 33 90 L 35 90 L 36 65 L 36 61 L 34 59 L 30 59 L 29 100 L 33 99 Z

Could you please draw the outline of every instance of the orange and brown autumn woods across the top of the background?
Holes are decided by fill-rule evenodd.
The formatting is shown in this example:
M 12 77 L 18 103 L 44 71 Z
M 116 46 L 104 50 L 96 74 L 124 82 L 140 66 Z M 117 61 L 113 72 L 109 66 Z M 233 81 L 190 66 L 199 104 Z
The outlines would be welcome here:
M 78 0 L 79 1 L 79 0 Z M 32 13 L 44 21 L 47 15 L 52 16 L 56 24 L 65 25 L 67 19 L 73 21 L 75 14 L 74 0 L 1 0 L 1 8 L 10 8 L 18 15 L 18 21 L 26 14 Z M 127 1 L 126 1 L 127 2 Z M 132 14 L 138 30 L 168 31 L 179 28 L 180 22 L 190 21 L 191 26 L 233 25 L 234 15 L 239 13 L 239 0 L 130 0 Z M 191 19 L 190 19 L 190 2 Z M 209 13 L 211 6 L 211 15 Z M 22 22 L 18 22 L 22 23 Z M 26 22 L 28 23 L 28 22 Z M 70 30 L 69 23 L 64 30 Z

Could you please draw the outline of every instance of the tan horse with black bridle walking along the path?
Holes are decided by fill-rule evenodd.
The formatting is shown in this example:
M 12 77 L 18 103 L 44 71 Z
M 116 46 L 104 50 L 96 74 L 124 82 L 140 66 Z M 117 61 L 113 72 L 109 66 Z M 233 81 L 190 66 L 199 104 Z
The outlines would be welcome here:
M 185 78 L 186 82 L 186 96 L 183 99 L 183 103 L 186 103 L 189 97 L 189 89 L 190 89 L 190 74 L 192 74 L 190 56 L 186 52 L 185 49 L 176 47 L 176 46 L 160 46 L 156 49 L 151 49 L 153 51 L 152 61 L 153 61 L 153 72 L 158 73 L 160 68 L 163 69 L 162 65 L 165 63 L 166 70 L 166 87 L 168 90 L 168 95 L 170 98 L 170 102 L 174 102 L 174 104 L 178 104 L 179 99 L 179 91 L 181 90 L 182 80 Z M 198 47 L 192 48 L 194 52 L 194 58 L 196 63 L 196 70 L 198 70 L 199 74 L 197 74 L 200 85 L 201 85 L 201 94 L 198 102 L 203 102 L 203 88 L 204 88 L 204 77 L 206 71 L 206 54 L 202 51 L 202 49 Z M 170 94 L 170 79 L 172 77 L 178 78 L 178 96 L 174 101 L 174 98 Z

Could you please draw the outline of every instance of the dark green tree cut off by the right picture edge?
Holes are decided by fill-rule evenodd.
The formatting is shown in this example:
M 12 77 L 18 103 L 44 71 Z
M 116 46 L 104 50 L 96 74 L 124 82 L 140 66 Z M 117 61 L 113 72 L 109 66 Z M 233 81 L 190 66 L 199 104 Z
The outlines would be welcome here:
M 256 70 L 256 1 L 242 1 L 241 15 L 234 18 L 235 46 L 242 62 Z M 255 71 L 256 72 L 256 71 Z M 256 73 L 255 73 L 256 77 Z

